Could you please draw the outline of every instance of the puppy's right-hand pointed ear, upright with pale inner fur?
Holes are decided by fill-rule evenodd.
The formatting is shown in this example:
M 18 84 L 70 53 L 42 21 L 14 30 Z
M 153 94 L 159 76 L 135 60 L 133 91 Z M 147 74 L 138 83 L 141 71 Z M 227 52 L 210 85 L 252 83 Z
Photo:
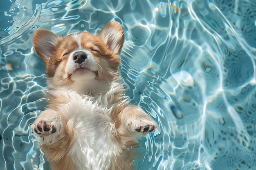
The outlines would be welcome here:
M 101 29 L 99 36 L 107 44 L 108 49 L 120 54 L 124 45 L 124 30 L 119 22 L 109 22 Z

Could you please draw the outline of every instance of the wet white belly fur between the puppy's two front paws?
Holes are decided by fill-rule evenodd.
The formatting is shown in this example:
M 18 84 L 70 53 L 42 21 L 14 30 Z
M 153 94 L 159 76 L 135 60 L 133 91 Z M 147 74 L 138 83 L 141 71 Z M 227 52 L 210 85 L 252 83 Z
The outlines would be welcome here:
M 67 122 L 72 124 L 76 138 L 68 155 L 72 157 L 77 170 L 107 170 L 120 154 L 121 148 L 112 139 L 114 124 L 109 117 L 109 110 L 90 110 L 90 105 L 77 105 L 78 112 Z M 83 112 L 79 112 L 80 108 Z

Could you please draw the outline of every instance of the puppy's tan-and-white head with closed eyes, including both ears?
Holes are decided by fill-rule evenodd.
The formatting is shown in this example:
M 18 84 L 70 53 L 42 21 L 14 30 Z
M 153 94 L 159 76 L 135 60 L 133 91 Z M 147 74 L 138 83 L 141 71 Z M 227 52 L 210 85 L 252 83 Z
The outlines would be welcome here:
M 110 84 L 117 76 L 123 44 L 124 32 L 119 22 L 108 23 L 97 36 L 82 32 L 60 38 L 50 31 L 38 30 L 33 38 L 34 49 L 56 86 L 75 82 Z

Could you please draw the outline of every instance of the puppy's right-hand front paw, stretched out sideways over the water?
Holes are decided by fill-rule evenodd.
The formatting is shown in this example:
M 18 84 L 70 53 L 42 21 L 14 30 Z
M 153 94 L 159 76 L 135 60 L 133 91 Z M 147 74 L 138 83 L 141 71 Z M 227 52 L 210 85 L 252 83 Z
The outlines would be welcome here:
M 138 106 L 127 106 L 123 112 L 119 114 L 122 126 L 125 126 L 130 132 L 146 134 L 153 132 L 157 127 L 157 123 L 147 115 L 144 110 Z

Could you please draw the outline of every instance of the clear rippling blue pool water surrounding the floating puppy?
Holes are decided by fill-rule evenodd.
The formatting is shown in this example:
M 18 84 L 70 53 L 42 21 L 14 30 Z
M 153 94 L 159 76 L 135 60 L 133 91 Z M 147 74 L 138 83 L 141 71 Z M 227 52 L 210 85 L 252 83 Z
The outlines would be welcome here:
M 1 0 L 0 170 L 49 168 L 29 131 L 46 105 L 36 30 L 110 20 L 125 32 L 126 95 L 159 124 L 136 170 L 255 170 L 255 0 Z

